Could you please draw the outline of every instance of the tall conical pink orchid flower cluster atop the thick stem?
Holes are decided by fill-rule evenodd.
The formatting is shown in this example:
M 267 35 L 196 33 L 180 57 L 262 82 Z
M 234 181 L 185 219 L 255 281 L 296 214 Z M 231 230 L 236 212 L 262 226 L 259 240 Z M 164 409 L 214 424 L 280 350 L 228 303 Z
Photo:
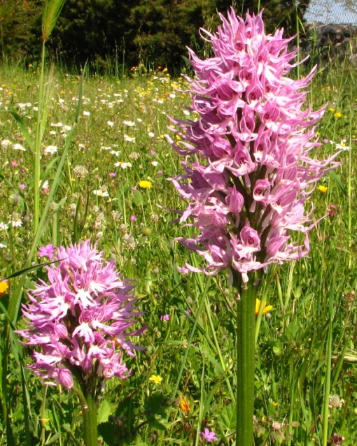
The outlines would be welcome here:
M 334 156 L 318 161 L 309 152 L 320 144 L 314 124 L 324 110 L 303 110 L 304 90 L 314 69 L 301 80 L 286 74 L 296 50 L 280 29 L 266 35 L 262 13 L 244 21 L 233 8 L 209 41 L 214 57 L 201 60 L 190 50 L 195 79 L 188 78 L 191 111 L 199 119 L 170 118 L 179 141 L 167 136 L 186 175 L 172 182 L 188 207 L 181 222 L 195 226 L 196 238 L 179 238 L 204 257 L 207 266 L 191 271 L 214 275 L 221 269 L 248 273 L 309 252 L 314 224 L 305 213 L 321 176 L 339 164 Z M 190 157 L 189 155 L 194 155 Z M 193 159 L 192 159 L 193 158 Z M 290 231 L 304 233 L 303 244 Z

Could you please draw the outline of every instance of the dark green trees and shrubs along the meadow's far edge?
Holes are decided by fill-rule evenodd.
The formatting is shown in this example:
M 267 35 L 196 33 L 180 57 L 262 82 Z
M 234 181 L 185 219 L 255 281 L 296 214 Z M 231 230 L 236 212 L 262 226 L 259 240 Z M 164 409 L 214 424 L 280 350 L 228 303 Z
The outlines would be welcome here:
M 66 69 L 85 61 L 97 71 L 120 66 L 167 66 L 180 70 L 186 46 L 205 51 L 200 27 L 215 31 L 217 12 L 234 6 L 237 13 L 265 8 L 267 31 L 277 27 L 295 34 L 309 0 L 66 0 L 49 41 L 52 59 Z M 34 64 L 38 60 L 43 0 L 0 0 L 0 45 L 3 59 Z

